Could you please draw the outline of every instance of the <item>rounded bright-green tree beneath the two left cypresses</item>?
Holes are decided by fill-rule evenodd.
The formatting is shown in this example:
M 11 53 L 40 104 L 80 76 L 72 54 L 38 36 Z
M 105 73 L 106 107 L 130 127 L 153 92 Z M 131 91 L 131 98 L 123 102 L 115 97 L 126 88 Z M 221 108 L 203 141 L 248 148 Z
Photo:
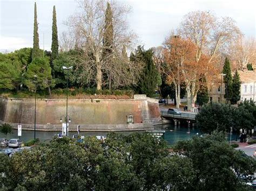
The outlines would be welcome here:
M 35 78 L 35 75 L 37 76 Z M 31 91 L 54 87 L 55 81 L 51 76 L 51 67 L 48 58 L 35 58 L 25 73 L 25 85 Z

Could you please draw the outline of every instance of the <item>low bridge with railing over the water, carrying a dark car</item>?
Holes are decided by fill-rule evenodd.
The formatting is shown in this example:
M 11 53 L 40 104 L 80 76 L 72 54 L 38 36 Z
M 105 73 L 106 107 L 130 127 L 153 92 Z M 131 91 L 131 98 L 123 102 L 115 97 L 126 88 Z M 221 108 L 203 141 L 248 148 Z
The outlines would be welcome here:
M 161 116 L 167 119 L 179 119 L 179 120 L 187 120 L 187 121 L 196 121 L 197 112 L 186 112 L 181 111 L 181 115 L 175 114 L 167 114 L 167 109 L 161 109 Z

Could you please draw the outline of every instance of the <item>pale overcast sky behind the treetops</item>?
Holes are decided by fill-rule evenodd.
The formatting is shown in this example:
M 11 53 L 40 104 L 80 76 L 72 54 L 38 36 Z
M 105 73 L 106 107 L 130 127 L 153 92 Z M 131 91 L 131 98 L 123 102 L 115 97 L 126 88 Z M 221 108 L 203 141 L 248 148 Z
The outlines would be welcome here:
M 232 17 L 246 36 L 256 37 L 255 0 L 118 0 L 131 5 L 128 19 L 145 48 L 159 46 L 181 18 L 190 11 L 211 10 L 218 17 Z M 33 45 L 32 0 L 0 0 L 0 51 L 14 51 Z M 63 22 L 76 12 L 74 0 L 37 0 L 39 46 L 51 48 L 52 8 L 56 5 L 58 35 L 66 30 Z

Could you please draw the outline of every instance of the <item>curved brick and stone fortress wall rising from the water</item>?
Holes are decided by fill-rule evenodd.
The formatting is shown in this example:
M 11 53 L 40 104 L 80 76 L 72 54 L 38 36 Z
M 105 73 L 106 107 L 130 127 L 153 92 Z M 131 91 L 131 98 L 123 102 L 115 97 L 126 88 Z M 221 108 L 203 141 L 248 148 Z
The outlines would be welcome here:
M 0 97 L 0 123 L 9 123 L 23 130 L 34 129 L 34 99 Z M 60 117 L 66 114 L 66 99 L 37 99 L 36 129 L 59 131 Z M 133 115 L 133 124 L 127 124 Z M 158 100 L 146 95 L 134 95 L 129 100 L 69 99 L 70 131 L 136 131 L 151 130 L 161 120 Z M 63 117 L 64 119 L 64 117 Z M 63 122 L 64 123 L 64 122 Z

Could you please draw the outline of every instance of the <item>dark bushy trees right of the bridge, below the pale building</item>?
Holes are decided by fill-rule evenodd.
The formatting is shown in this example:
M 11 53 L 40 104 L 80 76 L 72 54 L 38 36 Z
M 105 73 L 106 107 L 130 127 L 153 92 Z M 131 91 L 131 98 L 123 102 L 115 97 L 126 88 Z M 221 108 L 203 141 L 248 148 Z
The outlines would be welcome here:
M 256 107 L 251 101 L 245 101 L 234 107 L 229 104 L 210 103 L 204 105 L 196 116 L 201 131 L 211 133 L 214 130 L 229 132 L 230 127 L 253 129 L 256 125 Z

